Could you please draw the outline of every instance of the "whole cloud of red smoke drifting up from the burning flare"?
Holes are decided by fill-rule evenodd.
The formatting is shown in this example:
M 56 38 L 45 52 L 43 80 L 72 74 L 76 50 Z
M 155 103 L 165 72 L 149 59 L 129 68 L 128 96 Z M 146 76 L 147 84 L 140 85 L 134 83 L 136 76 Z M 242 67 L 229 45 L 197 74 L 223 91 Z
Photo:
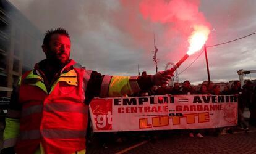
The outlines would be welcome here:
M 166 47 L 172 46 L 173 53 L 186 53 L 189 46 L 187 39 L 194 31 L 194 25 L 210 28 L 210 23 L 199 11 L 199 0 L 131 0 L 121 1 L 121 6 L 123 10 L 116 17 L 126 17 L 126 22 L 117 25 L 142 46 L 145 46 L 145 42 L 148 46 L 153 43 L 155 31 L 158 43 Z M 161 34 L 157 28 L 162 30 Z

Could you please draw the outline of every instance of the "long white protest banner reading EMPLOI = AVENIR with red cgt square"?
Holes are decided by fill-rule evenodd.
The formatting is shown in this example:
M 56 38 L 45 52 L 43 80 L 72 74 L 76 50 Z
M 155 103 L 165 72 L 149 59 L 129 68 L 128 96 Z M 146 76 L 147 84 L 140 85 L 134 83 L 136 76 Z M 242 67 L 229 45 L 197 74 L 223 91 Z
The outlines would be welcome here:
M 155 95 L 93 99 L 93 131 L 150 131 L 235 126 L 234 95 Z

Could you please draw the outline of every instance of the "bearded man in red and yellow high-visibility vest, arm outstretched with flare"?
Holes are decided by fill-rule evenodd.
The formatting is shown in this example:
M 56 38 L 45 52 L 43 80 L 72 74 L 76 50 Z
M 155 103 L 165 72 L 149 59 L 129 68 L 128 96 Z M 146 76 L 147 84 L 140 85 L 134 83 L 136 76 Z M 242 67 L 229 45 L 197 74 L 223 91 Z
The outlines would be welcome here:
M 49 30 L 46 59 L 24 73 L 11 95 L 1 153 L 85 153 L 88 104 L 93 97 L 117 97 L 168 84 L 171 75 L 108 76 L 69 59 L 63 28 Z M 33 57 L 32 57 L 33 58 Z

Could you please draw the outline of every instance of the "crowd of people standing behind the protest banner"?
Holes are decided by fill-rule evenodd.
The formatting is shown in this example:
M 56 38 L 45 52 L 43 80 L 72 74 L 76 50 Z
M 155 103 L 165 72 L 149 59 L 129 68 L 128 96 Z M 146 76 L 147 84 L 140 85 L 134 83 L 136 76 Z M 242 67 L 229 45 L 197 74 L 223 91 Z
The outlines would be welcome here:
M 202 84 L 199 91 L 190 86 L 189 81 L 184 81 L 182 86 L 179 83 L 174 83 L 173 87 L 161 87 L 158 94 L 211 94 L 211 95 L 236 95 L 238 97 L 238 127 L 241 129 L 248 129 L 248 124 L 244 120 L 245 107 L 249 108 L 250 118 L 249 124 L 255 126 L 256 113 L 256 88 L 252 81 L 248 80 L 244 86 L 241 87 L 240 81 L 234 81 L 232 87 L 226 86 L 223 91 L 220 90 L 220 85 L 208 83 Z

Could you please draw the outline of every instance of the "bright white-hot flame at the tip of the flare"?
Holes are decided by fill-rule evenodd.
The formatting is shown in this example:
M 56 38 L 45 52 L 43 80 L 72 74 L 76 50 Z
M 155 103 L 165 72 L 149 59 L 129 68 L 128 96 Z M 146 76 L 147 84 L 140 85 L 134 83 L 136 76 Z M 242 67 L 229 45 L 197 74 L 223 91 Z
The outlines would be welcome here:
M 189 36 L 189 50 L 187 51 L 188 55 L 192 55 L 195 52 L 202 49 L 203 45 L 208 39 L 208 35 L 210 34 L 210 30 L 207 26 L 203 25 L 194 25 L 194 31 L 191 36 Z

